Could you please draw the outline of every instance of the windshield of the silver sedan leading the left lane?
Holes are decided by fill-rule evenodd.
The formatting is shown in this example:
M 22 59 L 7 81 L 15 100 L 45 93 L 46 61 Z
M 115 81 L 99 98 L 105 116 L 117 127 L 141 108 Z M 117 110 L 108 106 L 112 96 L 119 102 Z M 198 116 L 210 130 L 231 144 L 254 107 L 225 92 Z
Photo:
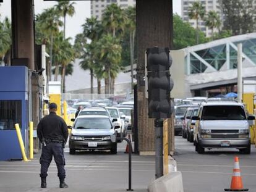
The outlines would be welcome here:
M 79 118 L 75 122 L 75 129 L 111 129 L 112 125 L 106 118 Z

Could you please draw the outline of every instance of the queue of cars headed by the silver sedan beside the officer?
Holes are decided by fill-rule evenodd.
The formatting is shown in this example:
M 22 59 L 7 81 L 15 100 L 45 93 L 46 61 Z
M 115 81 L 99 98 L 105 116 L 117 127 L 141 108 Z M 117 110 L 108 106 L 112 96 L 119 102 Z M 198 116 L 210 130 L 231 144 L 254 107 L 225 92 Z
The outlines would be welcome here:
M 132 107 L 85 107 L 72 119 L 69 136 L 69 153 L 80 150 L 110 150 L 117 153 L 117 143 L 125 137 Z

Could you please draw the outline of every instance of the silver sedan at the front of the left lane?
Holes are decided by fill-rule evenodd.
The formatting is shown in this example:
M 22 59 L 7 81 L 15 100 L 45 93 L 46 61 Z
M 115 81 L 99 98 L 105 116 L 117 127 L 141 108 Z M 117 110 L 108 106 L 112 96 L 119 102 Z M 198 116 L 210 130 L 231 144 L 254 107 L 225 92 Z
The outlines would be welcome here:
M 69 153 L 78 150 L 110 150 L 117 153 L 116 129 L 111 119 L 103 115 L 79 115 L 69 136 Z

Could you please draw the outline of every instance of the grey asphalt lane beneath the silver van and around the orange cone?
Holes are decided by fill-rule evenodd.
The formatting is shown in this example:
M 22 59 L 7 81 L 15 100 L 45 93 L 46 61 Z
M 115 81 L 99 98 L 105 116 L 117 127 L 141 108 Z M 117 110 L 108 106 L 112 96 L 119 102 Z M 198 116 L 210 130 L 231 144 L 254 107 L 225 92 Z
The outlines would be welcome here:
M 234 157 L 239 157 L 244 188 L 256 191 L 256 149 L 251 154 L 240 154 L 237 149 L 206 150 L 197 154 L 192 143 L 176 136 L 177 169 L 182 172 L 185 192 L 220 192 L 229 188 L 233 173 Z

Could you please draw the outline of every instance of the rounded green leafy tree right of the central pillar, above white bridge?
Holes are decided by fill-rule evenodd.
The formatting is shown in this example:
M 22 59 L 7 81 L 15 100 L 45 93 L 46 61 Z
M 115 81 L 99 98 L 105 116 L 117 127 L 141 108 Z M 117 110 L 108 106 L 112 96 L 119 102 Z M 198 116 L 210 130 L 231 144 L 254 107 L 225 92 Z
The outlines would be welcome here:
M 184 22 L 177 14 L 173 15 L 173 30 L 174 49 L 182 49 L 197 44 L 197 41 L 195 40 L 197 30 L 195 30 L 195 28 L 188 22 Z M 202 31 L 199 31 L 198 36 L 201 43 L 207 42 L 207 38 L 205 38 L 205 34 Z

